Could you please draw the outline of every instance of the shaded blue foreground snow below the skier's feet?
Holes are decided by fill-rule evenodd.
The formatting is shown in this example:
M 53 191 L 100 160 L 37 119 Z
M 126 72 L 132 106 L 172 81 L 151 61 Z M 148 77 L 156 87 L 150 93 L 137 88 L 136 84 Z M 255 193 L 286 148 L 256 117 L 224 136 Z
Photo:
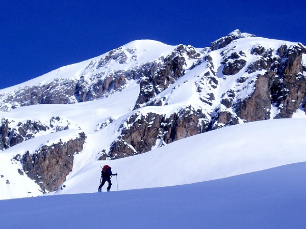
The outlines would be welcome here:
M 1 228 L 305 228 L 305 174 L 303 162 L 182 186 L 10 199 L 0 201 Z

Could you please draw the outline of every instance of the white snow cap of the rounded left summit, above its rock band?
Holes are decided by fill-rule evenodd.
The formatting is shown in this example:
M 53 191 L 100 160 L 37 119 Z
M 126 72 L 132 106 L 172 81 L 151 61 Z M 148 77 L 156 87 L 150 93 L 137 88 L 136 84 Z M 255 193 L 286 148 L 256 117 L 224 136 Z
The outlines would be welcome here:
M 124 53 L 127 55 L 125 63 L 118 63 L 116 60 L 111 60 L 107 64 L 99 67 L 109 53 L 96 56 L 95 58 L 63 66 L 46 74 L 38 76 L 26 82 L 14 85 L 10 88 L 0 90 L 0 94 L 8 93 L 19 88 L 31 87 L 33 85 L 47 84 L 55 79 L 79 79 L 81 75 L 86 78 L 93 73 L 97 74 L 104 71 L 126 70 L 147 63 L 151 60 L 158 59 L 160 56 L 167 55 L 173 51 L 176 46 L 164 44 L 153 40 L 136 40 L 127 43 L 117 49 L 115 52 Z M 132 58 L 135 56 L 135 58 Z M 98 67 L 97 67 L 98 66 Z

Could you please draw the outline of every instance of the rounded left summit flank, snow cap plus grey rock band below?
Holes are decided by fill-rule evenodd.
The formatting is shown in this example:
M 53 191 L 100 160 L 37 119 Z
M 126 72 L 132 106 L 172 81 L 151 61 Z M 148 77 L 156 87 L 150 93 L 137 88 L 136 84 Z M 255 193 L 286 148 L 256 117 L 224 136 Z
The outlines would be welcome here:
M 174 48 L 151 40 L 130 42 L 96 58 L 64 66 L 0 90 L 1 110 L 34 104 L 70 104 L 106 97 L 122 89 L 126 81 L 135 77 L 131 75 L 134 69 L 150 61 L 159 62 Z

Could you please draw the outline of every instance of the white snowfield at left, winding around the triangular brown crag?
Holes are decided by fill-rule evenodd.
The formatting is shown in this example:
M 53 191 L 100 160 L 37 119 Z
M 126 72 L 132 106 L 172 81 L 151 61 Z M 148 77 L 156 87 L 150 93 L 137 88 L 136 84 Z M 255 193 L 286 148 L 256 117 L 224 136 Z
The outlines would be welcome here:
M 11 125 L 17 125 L 26 120 L 39 120 L 47 122 L 51 117 L 60 116 L 70 123 L 69 130 L 58 131 L 56 133 L 44 133 L 41 136 L 23 141 L 0 153 L 0 199 L 19 198 L 27 196 L 37 196 L 41 194 L 40 188 L 33 180 L 27 176 L 20 176 L 18 169 L 22 170 L 20 162 L 12 160 L 17 154 L 23 155 L 29 151 L 34 153 L 43 145 L 52 145 L 59 139 L 68 141 L 78 137 L 78 133 L 85 131 L 87 134 L 86 145 L 83 152 L 75 155 L 74 169 L 79 170 L 84 165 L 96 161 L 96 152 L 99 152 L 103 144 L 110 144 L 106 139 L 113 133 L 106 130 L 95 131 L 99 123 L 104 123 L 109 117 L 118 119 L 124 113 L 128 113 L 134 106 L 134 101 L 138 95 L 138 85 L 132 82 L 130 87 L 120 94 L 114 94 L 103 100 L 90 101 L 77 104 L 42 104 L 25 106 L 14 109 L 10 112 L 0 112 L 2 118 L 13 120 Z M 119 96 L 119 97 L 118 97 Z M 116 123 L 113 124 L 114 128 Z M 11 127 L 12 128 L 12 127 Z M 115 132 L 115 130 L 112 130 Z M 9 181 L 10 184 L 7 184 Z

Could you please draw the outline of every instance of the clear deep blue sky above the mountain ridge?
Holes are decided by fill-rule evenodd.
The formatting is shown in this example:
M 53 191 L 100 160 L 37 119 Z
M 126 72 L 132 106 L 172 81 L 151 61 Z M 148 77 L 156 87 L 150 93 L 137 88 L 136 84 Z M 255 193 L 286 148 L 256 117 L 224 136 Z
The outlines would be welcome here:
M 291 1 L 2 1 L 0 88 L 137 39 L 207 47 L 242 32 L 306 44 L 306 3 Z

